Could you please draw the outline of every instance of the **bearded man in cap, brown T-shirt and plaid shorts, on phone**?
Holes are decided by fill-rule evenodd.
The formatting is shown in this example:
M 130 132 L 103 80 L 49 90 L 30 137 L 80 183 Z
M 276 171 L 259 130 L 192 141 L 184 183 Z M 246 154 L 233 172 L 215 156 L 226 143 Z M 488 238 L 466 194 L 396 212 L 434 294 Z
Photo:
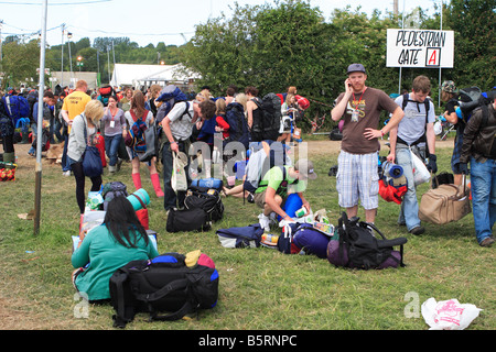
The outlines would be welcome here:
M 345 92 L 336 99 L 331 112 L 333 121 L 344 118 L 336 175 L 339 207 L 346 209 L 348 218 L 356 217 L 359 200 L 365 209 L 365 220 L 374 223 L 379 206 L 378 139 L 397 127 L 405 113 L 382 90 L 365 85 L 364 65 L 349 65 L 347 75 Z M 382 110 L 392 116 L 381 130 L 377 130 Z

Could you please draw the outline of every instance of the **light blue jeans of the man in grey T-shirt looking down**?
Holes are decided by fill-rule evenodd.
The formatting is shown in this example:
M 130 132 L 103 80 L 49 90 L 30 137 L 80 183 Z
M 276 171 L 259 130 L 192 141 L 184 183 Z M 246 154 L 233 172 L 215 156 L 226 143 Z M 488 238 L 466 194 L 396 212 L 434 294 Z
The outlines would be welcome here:
M 420 226 L 419 202 L 417 201 L 417 189 L 413 183 L 413 168 L 411 166 L 411 154 L 408 147 L 396 148 L 396 164 L 403 168 L 403 175 L 407 178 L 408 190 L 401 202 L 401 210 L 398 217 L 398 223 L 406 224 L 408 231 Z

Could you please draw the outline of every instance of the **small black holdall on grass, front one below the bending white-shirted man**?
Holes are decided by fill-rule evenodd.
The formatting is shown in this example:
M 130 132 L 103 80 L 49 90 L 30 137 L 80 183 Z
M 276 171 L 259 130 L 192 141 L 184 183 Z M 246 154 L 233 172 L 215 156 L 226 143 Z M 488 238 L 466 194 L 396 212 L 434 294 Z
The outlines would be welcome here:
M 168 232 L 208 231 L 211 228 L 208 213 L 202 208 L 169 210 L 165 226 Z

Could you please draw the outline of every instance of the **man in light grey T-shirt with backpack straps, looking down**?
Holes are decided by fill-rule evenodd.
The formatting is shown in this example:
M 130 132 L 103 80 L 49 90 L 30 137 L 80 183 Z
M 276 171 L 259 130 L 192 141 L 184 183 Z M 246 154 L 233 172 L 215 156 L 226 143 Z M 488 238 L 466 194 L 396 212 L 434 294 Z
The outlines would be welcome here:
M 408 190 L 401 201 L 398 223 L 406 226 L 408 232 L 422 234 L 425 229 L 420 224 L 419 204 L 417 200 L 417 187 L 413 182 L 413 169 L 410 150 L 418 154 L 421 160 L 429 156 L 428 169 L 434 174 L 438 172 L 435 157 L 435 133 L 434 105 L 429 99 L 431 81 L 425 76 L 413 79 L 412 91 L 400 96 L 396 103 L 405 107 L 403 119 L 398 127 L 389 132 L 390 153 L 387 157 L 389 163 L 396 163 L 403 169 L 407 178 Z

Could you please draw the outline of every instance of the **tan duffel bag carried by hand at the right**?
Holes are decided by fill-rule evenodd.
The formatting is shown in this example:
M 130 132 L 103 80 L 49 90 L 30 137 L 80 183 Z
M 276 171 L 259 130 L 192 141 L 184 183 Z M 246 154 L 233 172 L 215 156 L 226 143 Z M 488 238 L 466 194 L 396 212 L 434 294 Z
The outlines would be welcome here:
M 422 195 L 419 219 L 436 224 L 459 221 L 472 212 L 466 178 L 463 185 L 439 185 Z

